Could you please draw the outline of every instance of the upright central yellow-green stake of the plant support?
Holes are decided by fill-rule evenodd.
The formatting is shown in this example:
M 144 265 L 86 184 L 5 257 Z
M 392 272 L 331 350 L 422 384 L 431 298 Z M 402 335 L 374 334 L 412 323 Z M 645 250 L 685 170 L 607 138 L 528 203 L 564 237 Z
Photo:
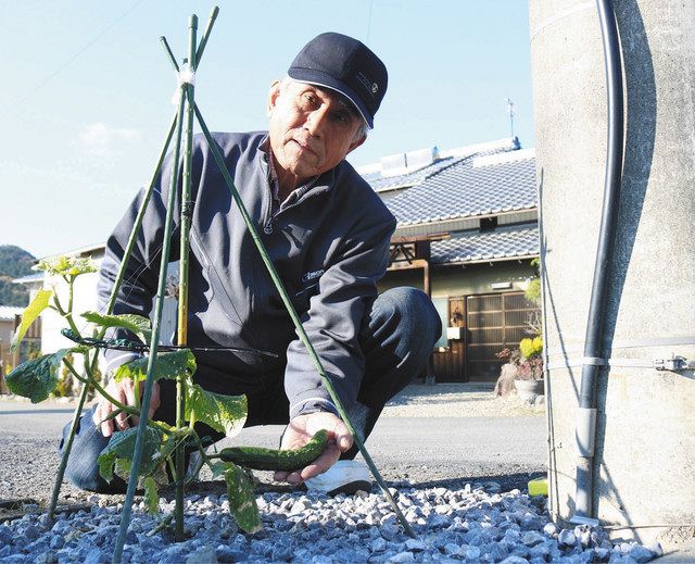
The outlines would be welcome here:
M 189 65 L 195 73 L 195 34 L 198 30 L 198 17 L 191 15 L 188 25 L 188 57 Z M 178 337 L 177 344 L 188 344 L 188 268 L 191 214 L 193 205 L 191 199 L 191 163 L 193 148 L 193 104 L 194 86 L 186 84 L 181 86 L 181 96 L 186 92 L 186 146 L 184 149 L 184 185 L 181 188 L 181 245 L 179 254 L 179 283 L 178 283 Z M 176 377 L 176 428 L 181 429 L 185 419 L 186 380 L 182 374 Z M 175 539 L 184 540 L 184 474 L 186 466 L 186 448 L 184 444 L 176 447 L 176 513 Z

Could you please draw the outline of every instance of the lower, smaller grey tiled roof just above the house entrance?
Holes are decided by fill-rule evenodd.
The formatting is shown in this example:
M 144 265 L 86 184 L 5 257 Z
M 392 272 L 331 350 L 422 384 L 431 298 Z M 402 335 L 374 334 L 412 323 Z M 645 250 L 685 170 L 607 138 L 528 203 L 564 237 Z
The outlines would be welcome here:
M 493 231 L 462 233 L 443 241 L 433 241 L 431 260 L 435 264 L 515 259 L 539 254 L 536 224 L 509 226 Z

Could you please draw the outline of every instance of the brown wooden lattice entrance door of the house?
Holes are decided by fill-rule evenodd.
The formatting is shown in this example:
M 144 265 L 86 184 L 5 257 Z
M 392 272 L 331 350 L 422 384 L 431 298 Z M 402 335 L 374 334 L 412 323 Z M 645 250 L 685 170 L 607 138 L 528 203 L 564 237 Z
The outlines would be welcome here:
M 495 354 L 516 347 L 538 312 L 523 292 L 450 298 L 448 326 L 460 327 L 460 338 L 434 353 L 437 381 L 495 381 L 503 364 Z

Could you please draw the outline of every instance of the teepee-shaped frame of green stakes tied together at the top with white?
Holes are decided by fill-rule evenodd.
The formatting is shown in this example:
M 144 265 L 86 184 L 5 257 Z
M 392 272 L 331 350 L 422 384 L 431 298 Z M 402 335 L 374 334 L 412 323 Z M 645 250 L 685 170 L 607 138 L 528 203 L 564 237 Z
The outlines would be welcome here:
M 208 17 L 207 21 L 207 25 L 205 27 L 205 30 L 203 33 L 203 36 L 201 38 L 201 41 L 199 45 L 197 45 L 197 30 L 198 30 L 198 17 L 193 14 L 190 16 L 189 20 L 189 26 L 188 26 L 188 58 L 184 60 L 185 64 L 187 65 L 187 68 L 185 68 L 186 72 L 181 72 L 181 68 L 179 67 L 178 63 L 176 62 L 176 58 L 174 57 L 172 49 L 169 48 L 166 39 L 164 37 L 161 38 L 162 45 L 164 47 L 164 50 L 167 54 L 167 58 L 169 60 L 169 62 L 172 63 L 172 66 L 176 70 L 176 72 L 178 73 L 179 76 L 179 101 L 178 101 L 178 109 L 177 112 L 172 121 L 172 124 L 169 126 L 168 133 L 166 135 L 165 138 L 165 142 L 164 146 L 162 148 L 162 151 L 160 153 L 160 158 L 157 160 L 156 166 L 154 168 L 154 173 L 152 174 L 150 184 L 148 186 L 148 189 L 146 191 L 144 198 L 142 199 L 142 203 L 140 205 L 140 209 L 138 211 L 138 215 L 135 222 L 135 225 L 132 227 L 132 231 L 130 234 L 130 237 L 128 239 L 128 243 L 126 246 L 126 250 L 124 252 L 124 256 L 122 260 L 122 264 L 121 264 L 121 268 L 118 272 L 118 275 L 116 277 L 116 280 L 114 283 L 114 287 L 111 293 L 111 298 L 109 300 L 109 303 L 106 305 L 106 313 L 111 313 L 113 310 L 113 305 L 115 303 L 116 300 L 116 296 L 118 292 L 118 289 L 123 283 L 123 278 L 124 278 L 124 274 L 125 274 L 125 268 L 128 262 L 128 259 L 130 256 L 132 247 L 135 245 L 135 240 L 137 238 L 137 235 L 141 228 L 141 224 L 142 224 L 142 217 L 144 216 L 144 211 L 148 206 L 150 197 L 152 195 L 152 191 L 154 189 L 154 186 L 156 185 L 156 179 L 160 175 L 161 168 L 162 168 L 162 164 L 164 162 L 164 156 L 167 153 L 168 150 L 168 146 L 172 141 L 172 138 L 174 137 L 174 135 L 176 135 L 176 140 L 174 143 L 174 148 L 173 148 L 173 160 L 172 160 L 172 174 L 170 174 L 170 186 L 169 186 L 169 193 L 168 193 L 168 201 L 167 201 L 167 211 L 166 211 L 166 220 L 165 220 L 165 226 L 164 226 L 164 242 L 163 242 L 163 248 L 162 248 L 162 261 L 161 261 L 161 265 L 160 265 L 160 274 L 159 274 L 159 285 L 157 285 L 157 293 L 156 293 L 156 299 L 155 299 L 155 305 L 154 305 L 154 315 L 153 315 L 153 322 L 152 322 L 152 338 L 151 341 L 149 343 L 149 348 L 150 348 L 150 355 L 149 355 L 149 361 L 148 361 L 148 368 L 147 368 L 147 378 L 144 381 L 144 390 L 142 393 L 142 400 L 141 400 L 141 405 L 140 405 L 140 421 L 138 424 L 138 430 L 137 430 L 137 439 L 136 439 L 136 446 L 135 446 L 135 452 L 134 452 L 134 456 L 132 456 L 132 463 L 131 463 L 131 472 L 130 472 L 130 476 L 129 476 L 129 480 L 128 480 L 128 489 L 126 492 L 126 499 L 124 501 L 123 504 L 123 513 L 122 513 L 122 517 L 121 517 L 121 527 L 118 530 L 118 536 L 116 538 L 116 543 L 115 543 L 115 548 L 114 548 L 114 553 L 113 553 L 113 562 L 114 563 L 121 563 L 122 561 L 122 556 L 123 556 L 123 547 L 125 543 L 125 538 L 126 538 L 126 534 L 128 530 L 128 525 L 130 522 L 130 515 L 131 515 L 131 511 L 132 511 L 132 499 L 135 496 L 135 491 L 136 491 L 136 487 L 138 485 L 138 471 L 140 467 L 140 462 L 141 462 L 141 458 L 142 458 L 142 447 L 143 447 L 143 438 L 144 438 L 144 430 L 147 428 L 148 425 L 148 413 L 149 413 L 149 409 L 150 409 L 150 402 L 151 402 L 151 397 L 152 397 L 152 387 L 154 384 L 154 366 L 157 360 L 157 346 L 159 346 L 159 341 L 160 341 L 160 329 L 161 329 L 161 321 L 162 321 L 162 309 L 163 309 L 163 304 L 164 304 L 164 294 L 165 294 L 165 287 L 166 287 L 166 271 L 167 271 L 167 264 L 168 264 L 168 259 L 169 259 L 169 249 L 170 249 L 170 236 L 172 236 L 172 226 L 173 226 L 173 210 L 174 210 L 174 198 L 175 195 L 177 192 L 177 181 L 178 181 L 178 171 L 179 171 L 179 161 L 180 161 L 180 148 L 181 148 L 181 140 L 184 140 L 184 156 L 182 156 L 182 186 L 181 186 L 181 218 L 180 218 L 180 226 L 181 226 L 181 240 L 180 240 L 180 276 L 179 276 L 179 304 L 178 304 L 178 335 L 177 335 L 177 344 L 179 346 L 186 346 L 187 344 L 187 319 L 188 319 L 188 255 L 189 255 L 189 233 L 190 233 L 190 193 L 191 193 L 191 156 L 192 156 L 192 137 L 193 137 L 193 117 L 195 118 L 195 121 L 198 121 L 198 124 L 200 125 L 203 136 L 205 137 L 205 140 L 207 141 L 208 146 L 210 146 L 210 150 L 211 153 L 213 155 L 213 159 L 215 160 L 215 163 L 217 164 L 217 166 L 219 167 L 219 171 L 222 172 L 223 178 L 225 180 L 225 184 L 227 185 L 232 199 L 235 200 L 239 212 L 241 213 L 241 216 L 249 229 L 249 233 L 251 234 L 251 237 L 258 250 L 258 253 L 261 255 L 261 259 L 263 260 L 263 263 L 265 264 L 268 274 L 270 275 L 270 278 L 273 279 L 273 283 L 275 284 L 278 292 L 280 293 L 280 297 L 282 299 L 282 302 L 288 311 L 288 314 L 290 315 L 290 317 L 292 318 L 292 322 L 296 328 L 296 333 L 300 337 L 300 340 L 302 341 L 302 343 L 304 344 L 304 347 L 306 347 L 306 350 L 309 354 L 309 356 L 312 358 L 312 361 L 314 363 L 314 366 L 316 367 L 316 371 L 318 372 L 318 374 L 320 375 L 321 381 L 324 384 L 324 386 L 326 387 L 326 389 L 328 390 L 336 408 L 338 409 L 338 412 L 340 414 L 340 417 L 342 418 L 342 421 L 344 422 L 345 426 L 348 427 L 348 429 L 350 430 L 355 444 L 357 446 L 359 452 L 362 453 L 362 455 L 364 456 L 365 462 L 367 463 L 367 465 L 369 466 L 369 469 L 375 478 L 375 480 L 377 481 L 377 484 L 379 485 L 379 487 L 381 488 L 381 491 L 383 492 L 384 497 L 387 498 L 387 500 L 389 501 L 389 503 L 391 504 L 393 511 L 395 512 L 401 525 L 403 526 L 403 528 L 405 529 L 405 531 L 410 536 L 410 537 L 415 537 L 415 534 L 413 531 L 413 529 L 410 528 L 410 526 L 408 525 L 408 523 L 405 521 L 405 517 L 403 516 L 402 512 L 400 511 L 399 506 L 396 505 L 395 501 L 393 500 L 393 497 L 391 496 L 389 489 L 387 488 L 386 482 L 383 481 L 383 478 L 381 477 L 381 475 L 379 474 L 379 471 L 377 469 L 374 461 L 371 460 L 371 456 L 369 455 L 369 453 L 367 452 L 367 449 L 365 448 L 364 444 L 364 439 L 359 436 L 359 434 L 356 431 L 354 425 L 352 424 L 352 421 L 350 419 L 350 415 L 346 412 L 346 410 L 344 409 L 337 391 L 336 388 L 333 387 L 330 378 L 328 378 L 328 376 L 326 375 L 326 371 L 324 369 L 324 366 L 321 364 L 320 359 L 318 358 L 314 347 L 312 346 L 312 342 L 308 339 L 308 336 L 306 335 L 306 331 L 304 330 L 304 327 L 302 326 L 302 322 L 296 313 L 296 311 L 294 310 L 294 306 L 292 304 L 292 302 L 290 301 L 290 298 L 285 289 L 285 286 L 275 268 L 275 265 L 273 264 L 264 245 L 263 241 L 261 240 L 261 237 L 257 233 L 257 229 L 253 223 L 253 221 L 251 220 L 242 200 L 241 197 L 239 196 L 239 191 L 237 190 L 233 180 L 231 178 L 231 175 L 229 174 L 229 171 L 227 170 L 225 162 L 224 162 L 224 158 L 223 154 L 220 152 L 219 147 L 217 146 L 216 141 L 213 139 L 210 129 L 207 128 L 207 125 L 205 124 L 205 121 L 203 120 L 203 116 L 200 112 L 200 109 L 198 108 L 195 101 L 194 101 L 194 75 L 195 72 L 200 65 L 200 60 L 201 57 L 203 54 L 203 51 L 205 50 L 205 46 L 207 45 L 207 40 L 210 38 L 210 34 L 212 32 L 212 28 L 214 26 L 215 20 L 217 17 L 217 14 L 219 12 L 219 9 L 217 7 L 215 7 Z M 185 131 L 184 129 L 184 125 L 186 126 Z M 92 361 L 96 364 L 96 353 L 94 353 L 94 359 Z M 185 398 L 185 390 L 184 390 L 184 381 L 182 379 L 178 379 L 177 380 L 177 411 L 176 411 L 176 425 L 177 427 L 182 427 L 185 425 L 185 421 L 184 421 L 184 398 Z M 84 400 L 86 398 L 86 393 L 87 393 L 87 386 L 85 386 L 85 389 L 83 390 L 83 394 L 80 397 L 80 406 L 84 404 Z M 76 417 L 78 417 L 78 413 L 79 411 L 76 411 Z M 59 476 L 56 479 L 56 487 L 54 489 L 53 492 L 53 503 L 52 503 L 52 509 L 54 510 L 54 501 L 58 499 L 58 491 L 60 489 L 60 482 L 63 479 L 63 474 L 64 474 L 64 469 L 66 466 L 66 462 L 67 462 L 67 456 L 70 455 L 70 450 L 72 448 L 72 443 L 73 443 L 73 438 L 74 438 L 74 433 L 75 433 L 75 428 L 76 428 L 76 423 L 77 423 L 77 418 L 75 421 L 73 421 L 73 425 L 71 427 L 71 433 L 68 436 L 68 439 L 65 443 L 64 447 L 64 453 L 63 453 L 63 460 L 61 462 L 61 467 L 59 469 Z M 184 448 L 182 447 L 178 447 L 177 452 L 176 452 L 176 481 L 175 481 L 175 486 L 176 486 L 176 510 L 175 510 L 175 521 L 176 521 L 176 538 L 177 540 L 182 540 L 184 538 L 184 461 L 185 461 L 185 453 L 184 453 Z

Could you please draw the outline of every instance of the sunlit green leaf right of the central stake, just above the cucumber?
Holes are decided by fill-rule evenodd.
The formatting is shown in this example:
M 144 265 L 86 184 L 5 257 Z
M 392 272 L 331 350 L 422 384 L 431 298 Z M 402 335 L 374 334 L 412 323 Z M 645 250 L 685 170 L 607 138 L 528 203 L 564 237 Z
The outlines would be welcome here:
M 200 421 L 233 437 L 247 422 L 247 397 L 224 396 L 204 390 L 198 384 L 187 386 L 186 419 Z

